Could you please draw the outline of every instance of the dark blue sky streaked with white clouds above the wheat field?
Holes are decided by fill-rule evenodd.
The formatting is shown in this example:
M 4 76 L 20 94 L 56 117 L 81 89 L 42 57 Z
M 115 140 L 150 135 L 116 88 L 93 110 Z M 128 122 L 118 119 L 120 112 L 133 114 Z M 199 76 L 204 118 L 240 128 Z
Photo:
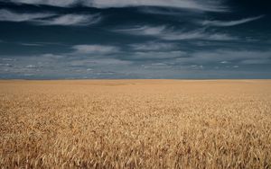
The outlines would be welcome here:
M 271 2 L 0 0 L 0 78 L 271 78 Z

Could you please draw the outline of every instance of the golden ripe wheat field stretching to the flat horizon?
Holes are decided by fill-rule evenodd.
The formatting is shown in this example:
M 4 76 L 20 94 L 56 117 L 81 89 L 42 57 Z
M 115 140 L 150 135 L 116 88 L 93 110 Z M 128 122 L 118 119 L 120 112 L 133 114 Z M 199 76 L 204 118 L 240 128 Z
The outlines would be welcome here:
M 271 80 L 14 80 L 0 99 L 0 168 L 271 168 Z

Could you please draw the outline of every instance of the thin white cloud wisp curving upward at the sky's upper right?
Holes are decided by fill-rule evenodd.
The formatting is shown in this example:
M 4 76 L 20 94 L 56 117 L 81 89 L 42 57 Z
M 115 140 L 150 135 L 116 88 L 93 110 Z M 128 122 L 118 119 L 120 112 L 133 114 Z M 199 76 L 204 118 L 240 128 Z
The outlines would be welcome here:
M 256 21 L 258 19 L 261 19 L 263 18 L 264 15 L 260 15 L 260 16 L 256 16 L 256 17 L 251 17 L 251 18 L 245 18 L 245 19 L 241 19 L 241 20 L 238 20 L 238 21 L 203 21 L 201 22 L 202 25 L 210 25 L 210 26 L 235 26 L 235 25 L 238 25 L 238 24 L 243 24 L 243 23 L 246 23 L 246 22 L 252 22 L 252 21 Z

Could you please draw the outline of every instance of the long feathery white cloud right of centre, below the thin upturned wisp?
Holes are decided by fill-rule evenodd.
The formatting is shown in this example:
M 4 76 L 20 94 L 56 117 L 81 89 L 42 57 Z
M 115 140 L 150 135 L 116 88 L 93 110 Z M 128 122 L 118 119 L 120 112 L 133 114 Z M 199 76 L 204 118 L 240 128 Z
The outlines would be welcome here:
M 225 33 L 207 33 L 205 31 L 176 31 L 166 26 L 137 26 L 135 28 L 119 29 L 117 32 L 154 36 L 162 40 L 237 40 L 238 38 Z

